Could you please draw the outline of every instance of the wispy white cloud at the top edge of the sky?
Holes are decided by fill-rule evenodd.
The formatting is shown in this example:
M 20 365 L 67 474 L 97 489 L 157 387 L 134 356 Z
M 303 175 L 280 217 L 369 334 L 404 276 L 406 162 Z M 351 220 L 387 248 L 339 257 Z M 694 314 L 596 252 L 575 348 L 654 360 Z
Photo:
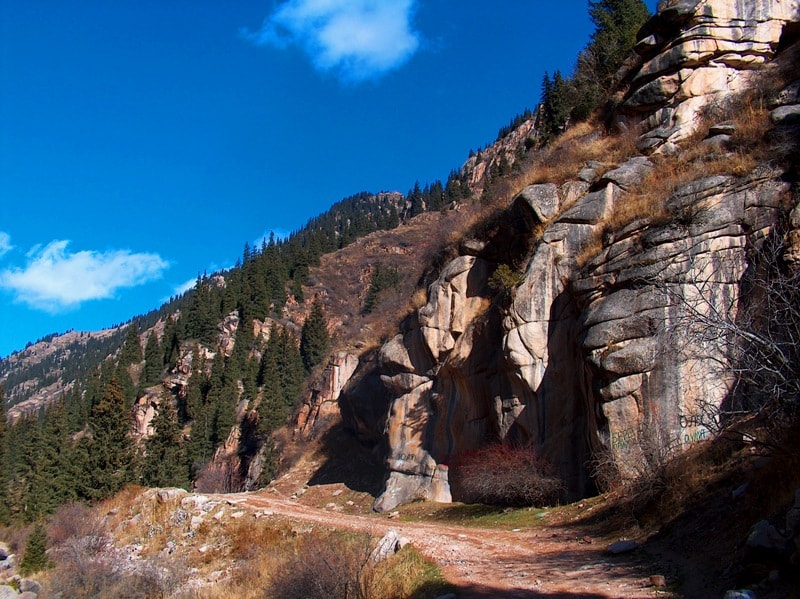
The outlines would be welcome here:
M 417 51 L 415 5 L 416 0 L 288 0 L 261 30 L 243 34 L 258 45 L 299 45 L 318 70 L 359 83 L 401 67 Z

